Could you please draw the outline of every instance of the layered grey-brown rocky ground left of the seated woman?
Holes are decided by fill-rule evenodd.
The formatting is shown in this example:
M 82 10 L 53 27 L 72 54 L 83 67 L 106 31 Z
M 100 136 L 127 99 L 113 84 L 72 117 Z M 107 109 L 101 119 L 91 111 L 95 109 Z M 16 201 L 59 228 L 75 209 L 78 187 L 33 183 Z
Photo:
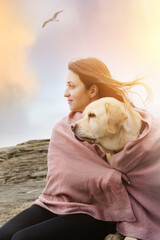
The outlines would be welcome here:
M 46 183 L 49 139 L 0 148 L 0 225 L 27 208 Z

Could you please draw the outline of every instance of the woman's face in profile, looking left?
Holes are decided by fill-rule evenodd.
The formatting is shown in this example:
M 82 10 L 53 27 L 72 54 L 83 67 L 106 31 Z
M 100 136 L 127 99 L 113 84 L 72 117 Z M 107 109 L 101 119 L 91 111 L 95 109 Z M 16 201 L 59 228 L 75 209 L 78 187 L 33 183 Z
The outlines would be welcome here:
M 91 102 L 89 89 L 87 90 L 79 76 L 70 70 L 66 84 L 64 97 L 67 97 L 70 110 L 72 112 L 83 112 L 84 108 Z

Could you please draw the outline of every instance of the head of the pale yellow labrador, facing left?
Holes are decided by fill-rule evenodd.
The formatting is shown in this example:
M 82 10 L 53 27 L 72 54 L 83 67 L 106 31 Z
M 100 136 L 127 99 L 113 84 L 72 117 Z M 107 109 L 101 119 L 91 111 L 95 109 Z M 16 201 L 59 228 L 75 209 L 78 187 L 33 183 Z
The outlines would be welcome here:
M 113 137 L 127 118 L 124 104 L 106 97 L 90 103 L 83 112 L 83 118 L 71 128 L 79 140 L 96 143 L 100 138 Z

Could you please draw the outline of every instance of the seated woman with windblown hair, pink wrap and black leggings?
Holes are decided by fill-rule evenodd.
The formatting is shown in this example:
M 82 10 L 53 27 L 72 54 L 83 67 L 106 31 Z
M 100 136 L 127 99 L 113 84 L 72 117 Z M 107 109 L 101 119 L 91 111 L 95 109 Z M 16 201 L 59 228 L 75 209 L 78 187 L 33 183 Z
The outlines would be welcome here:
M 97 58 L 69 62 L 68 69 L 64 97 L 71 113 L 53 129 L 47 184 L 30 208 L 0 228 L 0 240 L 103 240 L 115 232 L 115 222 L 135 220 L 121 172 L 108 165 L 95 145 L 77 141 L 70 125 L 101 97 L 131 103 L 127 90 L 144 84 L 114 80 Z

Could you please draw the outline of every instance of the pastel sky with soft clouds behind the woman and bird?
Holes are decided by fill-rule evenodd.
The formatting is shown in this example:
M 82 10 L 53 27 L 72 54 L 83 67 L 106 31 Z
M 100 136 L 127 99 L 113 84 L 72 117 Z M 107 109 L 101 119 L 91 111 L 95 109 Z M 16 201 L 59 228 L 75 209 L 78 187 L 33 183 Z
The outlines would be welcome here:
M 144 77 L 152 100 L 133 100 L 160 117 L 159 12 L 159 0 L 0 0 L 0 148 L 51 137 L 69 113 L 63 94 L 76 58 L 99 58 L 119 81 Z

